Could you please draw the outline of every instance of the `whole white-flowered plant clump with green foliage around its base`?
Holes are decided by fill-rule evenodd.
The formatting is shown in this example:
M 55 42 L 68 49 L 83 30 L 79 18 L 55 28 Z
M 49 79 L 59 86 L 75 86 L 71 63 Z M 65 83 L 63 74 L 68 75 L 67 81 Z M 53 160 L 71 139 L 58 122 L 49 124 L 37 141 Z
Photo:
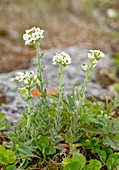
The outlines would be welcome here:
M 71 64 L 71 57 L 65 52 L 56 53 L 52 62 L 59 65 L 59 87 L 47 91 L 40 51 L 43 33 L 33 27 L 23 35 L 25 44 L 36 49 L 36 72 L 18 72 L 13 78 L 21 84 L 18 92 L 28 107 L 13 133 L 7 134 L 11 141 L 4 142 L 4 146 L 15 153 L 18 169 L 114 170 L 119 162 L 119 122 L 112 115 L 119 100 L 105 104 L 85 97 L 90 73 L 105 57 L 104 53 L 89 51 L 89 64 L 81 65 L 85 75 L 82 88 L 76 88 L 76 82 L 68 95 L 64 94 L 63 70 Z

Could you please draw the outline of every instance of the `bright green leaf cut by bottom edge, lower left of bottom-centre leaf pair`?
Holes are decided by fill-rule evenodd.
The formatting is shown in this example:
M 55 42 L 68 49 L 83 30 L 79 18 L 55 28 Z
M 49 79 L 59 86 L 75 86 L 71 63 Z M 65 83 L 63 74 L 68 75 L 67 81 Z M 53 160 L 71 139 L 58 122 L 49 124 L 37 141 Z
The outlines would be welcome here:
M 68 164 L 66 164 L 63 168 L 63 170 L 79 170 L 79 162 L 76 162 L 76 161 L 72 161 Z

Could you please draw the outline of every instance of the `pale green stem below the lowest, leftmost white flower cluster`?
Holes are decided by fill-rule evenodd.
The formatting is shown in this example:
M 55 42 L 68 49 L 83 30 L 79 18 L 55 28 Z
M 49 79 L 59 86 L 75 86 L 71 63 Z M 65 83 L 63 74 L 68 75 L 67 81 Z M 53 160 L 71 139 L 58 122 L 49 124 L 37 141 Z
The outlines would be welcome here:
M 27 129 L 29 129 L 31 123 L 31 92 L 28 89 L 28 114 L 27 114 Z

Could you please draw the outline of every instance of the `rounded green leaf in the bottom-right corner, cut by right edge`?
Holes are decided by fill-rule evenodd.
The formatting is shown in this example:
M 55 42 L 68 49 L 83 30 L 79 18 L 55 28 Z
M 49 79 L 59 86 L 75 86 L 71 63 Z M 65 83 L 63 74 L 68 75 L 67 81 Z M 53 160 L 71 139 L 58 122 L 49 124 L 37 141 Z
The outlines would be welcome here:
M 119 165 L 119 152 L 111 154 L 106 161 L 106 165 L 109 170 L 112 170 L 114 167 L 118 166 Z

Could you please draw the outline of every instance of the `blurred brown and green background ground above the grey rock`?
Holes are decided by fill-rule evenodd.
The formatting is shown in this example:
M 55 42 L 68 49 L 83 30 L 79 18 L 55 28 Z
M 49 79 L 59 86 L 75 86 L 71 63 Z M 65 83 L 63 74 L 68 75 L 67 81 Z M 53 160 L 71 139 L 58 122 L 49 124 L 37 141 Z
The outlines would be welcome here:
M 25 29 L 45 30 L 43 50 L 82 46 L 119 63 L 119 0 L 0 0 L 0 73 L 27 68 L 35 51 Z

